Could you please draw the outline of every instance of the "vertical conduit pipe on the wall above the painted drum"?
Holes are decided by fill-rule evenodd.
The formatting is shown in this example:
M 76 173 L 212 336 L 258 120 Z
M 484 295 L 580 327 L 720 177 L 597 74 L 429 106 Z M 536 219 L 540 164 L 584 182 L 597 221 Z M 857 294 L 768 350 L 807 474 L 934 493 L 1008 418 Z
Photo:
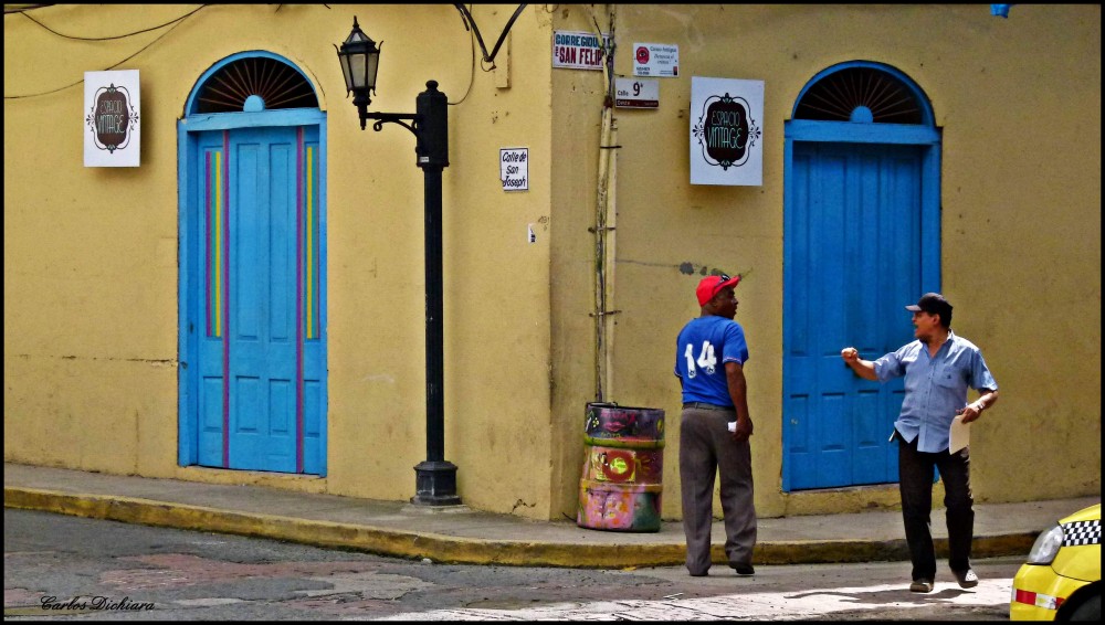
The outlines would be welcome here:
M 594 202 L 594 401 L 608 401 L 613 385 L 613 316 L 609 304 L 613 300 L 614 277 L 614 193 L 613 172 L 617 162 L 615 145 L 618 125 L 613 116 L 614 107 L 614 9 L 609 6 L 610 43 L 602 66 L 606 80 L 606 95 L 602 98 L 602 126 L 599 135 L 599 176 Z M 596 23 L 596 30 L 601 29 Z

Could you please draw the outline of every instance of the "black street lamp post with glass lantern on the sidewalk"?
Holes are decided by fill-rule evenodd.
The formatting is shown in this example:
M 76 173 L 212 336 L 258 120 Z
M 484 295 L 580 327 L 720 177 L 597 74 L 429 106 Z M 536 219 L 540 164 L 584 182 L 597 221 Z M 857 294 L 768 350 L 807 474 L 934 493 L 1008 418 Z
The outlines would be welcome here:
M 381 42 L 382 43 L 382 42 Z M 335 46 L 337 47 L 337 46 Z M 442 280 L 441 280 L 441 170 L 449 167 L 449 116 L 445 94 L 438 91 L 436 81 L 428 81 L 425 91 L 415 98 L 415 113 L 369 113 L 369 92 L 376 92 L 376 72 L 380 50 L 352 19 L 352 32 L 338 49 L 346 96 L 354 94 L 352 104 L 360 114 L 360 129 L 375 119 L 379 131 L 388 121 L 399 124 L 414 134 L 418 167 L 425 178 L 425 460 L 414 467 L 412 504 L 455 506 L 456 465 L 445 460 L 444 371 L 442 356 Z M 408 124 L 407 120 L 410 120 Z

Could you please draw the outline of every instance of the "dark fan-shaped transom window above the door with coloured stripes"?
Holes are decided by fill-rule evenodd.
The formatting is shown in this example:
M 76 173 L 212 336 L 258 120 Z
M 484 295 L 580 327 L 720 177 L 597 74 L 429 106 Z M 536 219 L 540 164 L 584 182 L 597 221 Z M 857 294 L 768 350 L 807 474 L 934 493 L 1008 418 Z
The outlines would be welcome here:
M 267 56 L 228 63 L 203 83 L 194 113 L 318 108 L 311 83 L 295 68 Z

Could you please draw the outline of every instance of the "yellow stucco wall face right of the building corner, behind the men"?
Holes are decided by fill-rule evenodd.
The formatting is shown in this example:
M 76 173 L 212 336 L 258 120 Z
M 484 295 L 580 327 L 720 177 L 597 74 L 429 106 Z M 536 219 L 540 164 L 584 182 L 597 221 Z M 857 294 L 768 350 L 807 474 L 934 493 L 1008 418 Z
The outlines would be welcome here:
M 657 110 L 615 109 L 622 148 L 610 308 L 621 312 L 607 399 L 666 411 L 665 517 L 680 516 L 672 343 L 698 312 L 699 275 L 682 273 L 686 263 L 745 276 L 737 320 L 753 353 L 745 371 L 759 513 L 897 504 L 895 486 L 781 491 L 783 123 L 818 72 L 852 60 L 911 76 L 943 128 L 943 290 L 956 305 L 955 330 L 982 347 L 1001 386 L 999 405 L 974 428 L 976 497 L 1099 492 L 1099 7 L 1014 6 L 1009 19 L 986 6 L 614 9 L 618 75 L 632 76 L 634 43 L 652 42 L 678 45 L 683 76 L 660 78 Z M 610 23 L 601 8 L 561 6 L 556 18 L 562 30 Z M 690 76 L 765 81 L 762 187 L 688 183 Z M 552 259 L 554 413 L 567 442 L 555 458 L 569 510 L 594 345 L 587 317 L 593 242 L 573 222 L 593 223 L 602 86 L 594 73 L 565 70 L 552 84 L 554 126 L 572 129 L 554 142 L 567 170 L 554 172 L 565 236 Z M 909 322 L 907 312 L 901 322 Z

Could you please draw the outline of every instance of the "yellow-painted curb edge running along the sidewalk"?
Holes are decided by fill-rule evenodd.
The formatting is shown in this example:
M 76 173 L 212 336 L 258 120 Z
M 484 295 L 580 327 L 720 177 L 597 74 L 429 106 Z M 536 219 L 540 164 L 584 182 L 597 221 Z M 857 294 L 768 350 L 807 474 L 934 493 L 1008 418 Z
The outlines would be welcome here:
M 171 504 L 133 497 L 73 495 L 53 490 L 4 487 L 4 508 L 53 512 L 193 531 L 209 531 L 297 542 L 377 555 L 451 564 L 558 566 L 576 569 L 628 569 L 678 566 L 686 558 L 685 544 L 575 544 L 455 538 L 429 532 L 387 530 L 371 526 L 337 523 L 232 512 L 202 506 Z M 975 558 L 1023 555 L 1035 532 L 976 537 Z M 938 558 L 947 558 L 947 539 L 936 539 Z M 727 562 L 725 549 L 711 549 L 715 564 Z M 824 564 L 908 561 L 905 539 L 777 541 L 756 544 L 756 564 Z

